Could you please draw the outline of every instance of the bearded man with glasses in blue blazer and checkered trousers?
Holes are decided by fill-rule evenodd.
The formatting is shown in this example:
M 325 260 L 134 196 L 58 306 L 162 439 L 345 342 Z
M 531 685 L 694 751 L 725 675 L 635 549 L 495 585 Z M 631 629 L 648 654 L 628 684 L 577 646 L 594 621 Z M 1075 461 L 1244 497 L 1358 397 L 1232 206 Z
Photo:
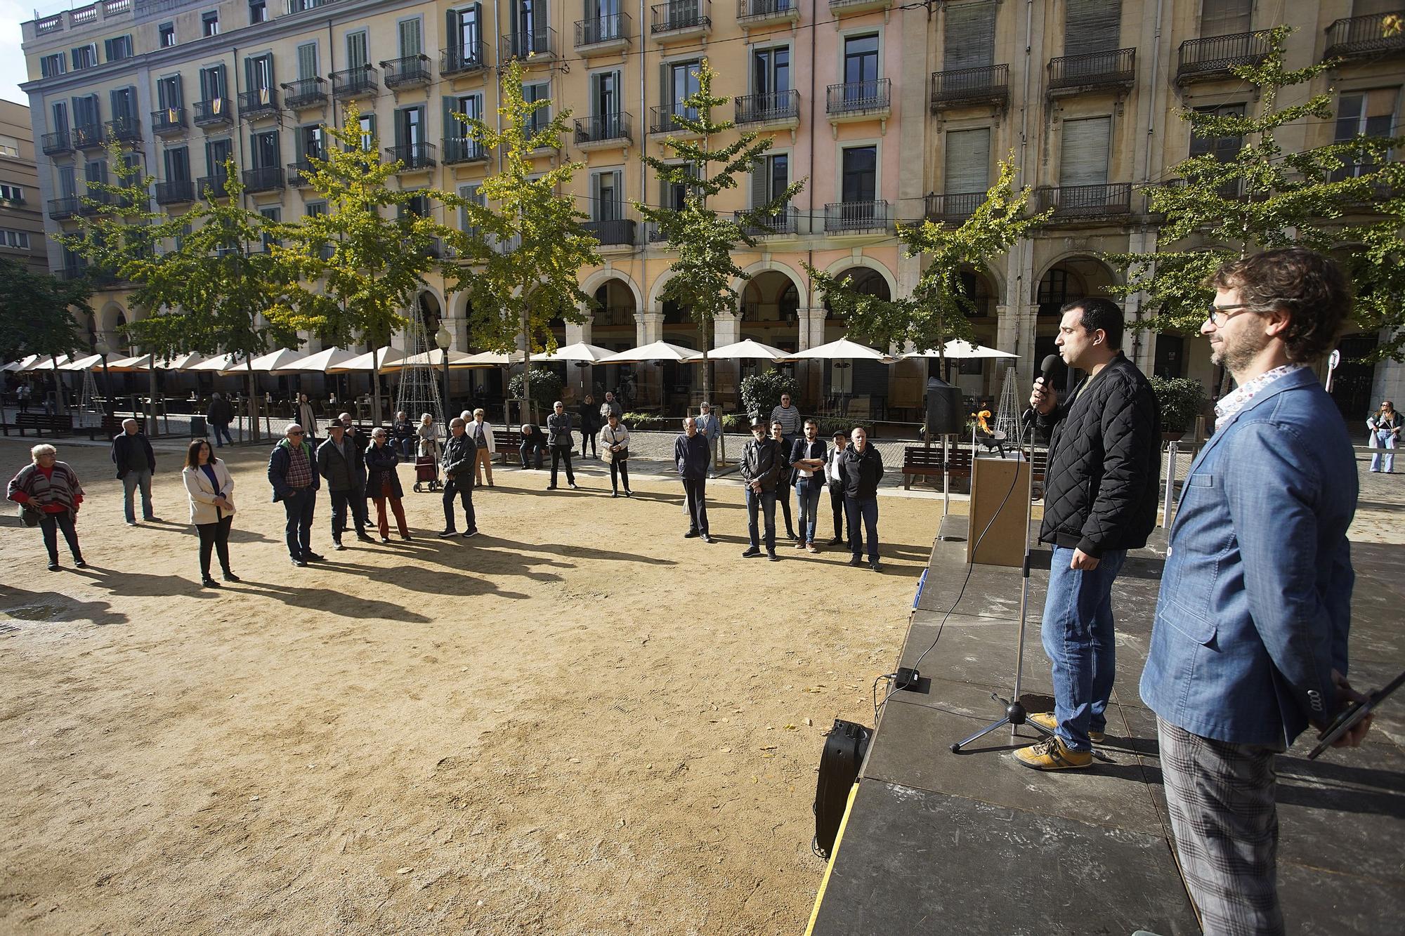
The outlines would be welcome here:
M 1356 458 L 1308 370 L 1350 295 L 1331 260 L 1298 247 L 1227 263 L 1213 284 L 1200 333 L 1238 388 L 1190 465 L 1141 696 L 1204 932 L 1283 933 L 1273 760 L 1359 698 L 1345 679 Z

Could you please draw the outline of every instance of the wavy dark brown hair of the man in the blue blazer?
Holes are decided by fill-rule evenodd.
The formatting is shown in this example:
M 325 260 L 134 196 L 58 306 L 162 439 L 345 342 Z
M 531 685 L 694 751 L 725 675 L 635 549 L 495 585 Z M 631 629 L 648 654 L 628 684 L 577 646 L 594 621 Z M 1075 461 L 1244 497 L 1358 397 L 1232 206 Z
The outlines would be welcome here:
M 1274 309 L 1287 312 L 1283 342 L 1290 361 L 1311 364 L 1325 356 L 1352 315 L 1352 291 L 1342 270 L 1305 247 L 1231 260 L 1205 285 L 1239 290 L 1239 301 L 1260 315 Z

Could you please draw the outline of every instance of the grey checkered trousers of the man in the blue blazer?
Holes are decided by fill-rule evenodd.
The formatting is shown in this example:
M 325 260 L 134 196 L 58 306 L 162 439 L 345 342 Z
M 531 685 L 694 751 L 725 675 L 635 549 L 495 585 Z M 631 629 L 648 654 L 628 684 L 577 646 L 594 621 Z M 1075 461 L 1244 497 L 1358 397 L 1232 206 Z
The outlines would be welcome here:
M 1279 752 L 1211 741 L 1161 718 L 1156 734 L 1180 871 L 1205 936 L 1281 935 Z

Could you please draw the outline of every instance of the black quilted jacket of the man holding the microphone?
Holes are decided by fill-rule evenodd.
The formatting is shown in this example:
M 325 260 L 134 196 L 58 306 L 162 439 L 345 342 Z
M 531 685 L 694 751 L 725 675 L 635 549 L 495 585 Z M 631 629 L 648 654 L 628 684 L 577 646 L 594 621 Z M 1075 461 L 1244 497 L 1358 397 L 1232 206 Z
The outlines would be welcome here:
M 1071 406 L 1055 406 L 1038 420 L 1050 438 L 1040 541 L 1094 557 L 1138 550 L 1156 526 L 1156 395 L 1121 354 L 1080 386 Z

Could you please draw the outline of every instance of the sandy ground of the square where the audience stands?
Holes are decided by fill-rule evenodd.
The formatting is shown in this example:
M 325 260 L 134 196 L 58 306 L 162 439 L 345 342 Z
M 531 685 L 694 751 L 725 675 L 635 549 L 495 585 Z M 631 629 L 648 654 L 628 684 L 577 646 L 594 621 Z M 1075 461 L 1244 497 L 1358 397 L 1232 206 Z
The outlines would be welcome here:
M 940 510 L 884 498 L 875 575 L 742 559 L 735 482 L 705 545 L 676 482 L 502 469 L 475 540 L 332 552 L 323 499 L 295 569 L 240 450 L 214 592 L 176 453 L 135 530 L 105 448 L 60 458 L 93 568 L 0 526 L 4 933 L 799 932 L 822 732 L 873 722 Z

